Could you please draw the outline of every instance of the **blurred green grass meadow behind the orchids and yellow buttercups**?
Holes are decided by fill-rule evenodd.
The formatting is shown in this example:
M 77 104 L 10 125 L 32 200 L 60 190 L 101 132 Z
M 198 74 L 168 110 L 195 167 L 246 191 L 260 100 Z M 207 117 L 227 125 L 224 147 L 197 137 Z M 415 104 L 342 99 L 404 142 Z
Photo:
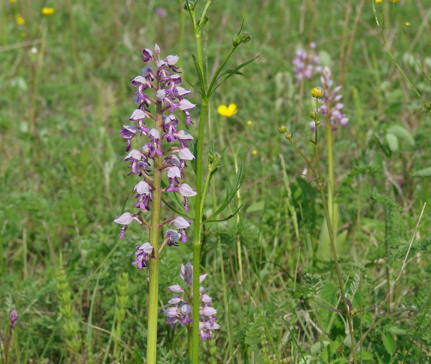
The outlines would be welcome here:
M 395 5 L 381 5 L 388 46 L 429 102 L 430 85 L 409 52 Z M 428 75 L 429 5 L 397 2 Z M 44 6 L 54 13 L 43 15 Z M 307 80 L 301 93 L 292 66 L 296 49 L 311 41 L 334 86 L 343 84 L 349 118 L 348 128 L 336 132 L 334 174 L 337 248 L 354 308 L 383 302 L 415 239 L 379 316 L 373 309 L 354 318 L 357 342 L 371 328 L 361 362 L 403 363 L 412 343 L 406 363 L 429 363 L 431 206 L 414 230 L 431 193 L 430 116 L 389 57 L 372 1 L 219 0 L 208 16 L 208 74 L 230 50 L 241 16 L 252 40 L 227 67 L 260 56 L 210 104 L 206 149 L 213 139 L 216 151 L 227 150 L 206 213 L 224 200 L 223 182 L 233 182 L 240 161 L 244 182 L 239 219 L 204 227 L 201 271 L 222 327 L 203 342 L 202 363 L 348 362 L 345 318 L 316 304 L 338 303 L 317 184 L 297 173 L 307 174 L 306 164 L 278 133 L 286 125 L 312 156 L 309 90 L 321 83 L 318 76 Z M 178 54 L 183 80 L 197 83 L 189 14 L 174 0 L 2 0 L 0 22 L 0 361 L 9 337 L 9 363 L 143 363 L 147 271 L 131 263 L 147 234 L 130 226 L 120 241 L 113 222 L 135 197 L 118 132 L 135 108 L 131 80 L 144 66 L 142 48 L 157 43 L 164 56 Z M 198 94 L 189 100 L 198 103 Z M 230 103 L 236 115 L 217 114 L 218 105 Z M 190 133 L 197 135 L 199 105 L 193 111 Z M 193 211 L 193 198 L 190 205 Z M 181 263 L 191 259 L 190 242 L 167 250 L 161 308 L 172 296 L 167 287 L 180 283 Z M 9 336 L 13 308 L 18 320 Z M 185 363 L 187 331 L 171 331 L 165 321 L 161 311 L 160 363 Z

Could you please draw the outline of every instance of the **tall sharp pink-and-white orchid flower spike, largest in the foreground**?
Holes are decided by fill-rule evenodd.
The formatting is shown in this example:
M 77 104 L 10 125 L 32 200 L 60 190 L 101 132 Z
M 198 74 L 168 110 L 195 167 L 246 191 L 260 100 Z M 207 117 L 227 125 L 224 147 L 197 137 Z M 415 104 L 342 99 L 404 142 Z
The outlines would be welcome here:
M 189 95 L 190 90 L 179 86 L 182 83 L 182 78 L 179 75 L 181 72 L 178 71 L 179 67 L 175 65 L 178 62 L 178 56 L 168 55 L 165 59 L 161 59 L 160 48 L 157 45 L 155 45 L 154 52 L 155 56 L 148 48 L 142 51 L 143 61 L 152 61 L 155 67 L 145 66 L 141 70 L 141 75 L 132 80 L 132 85 L 137 89 L 135 92 L 137 108 L 129 118 L 133 124 L 124 125 L 123 129 L 120 130 L 121 137 L 127 140 L 125 143 L 126 152 L 129 152 L 124 160 L 130 163 L 129 176 L 141 177 L 141 181 L 134 188 L 137 193 L 135 196 L 136 208 L 142 211 L 150 210 L 149 203 L 152 200 L 152 194 L 156 188 L 161 188 L 154 185 L 152 178 L 154 164 L 157 156 L 162 156 L 162 165 L 158 170 L 167 179 L 168 186 L 161 189 L 161 192 L 181 195 L 184 198 L 184 208 L 187 212 L 189 211 L 188 198 L 194 196 L 196 192 L 191 186 L 180 182 L 180 180 L 183 180 L 183 169 L 187 167 L 186 162 L 194 159 L 188 148 L 188 143 L 193 140 L 193 137 L 184 130 L 178 130 L 179 120 L 173 113 L 176 110 L 181 110 L 186 115 L 186 123 L 191 124 L 190 110 L 194 109 L 196 105 L 185 98 Z M 151 90 L 155 97 L 147 94 L 147 91 Z M 156 105 L 156 115 L 149 110 L 151 104 Z M 164 115 L 166 111 L 170 111 L 171 114 Z M 145 122 L 151 120 L 156 122 L 155 128 L 146 126 Z M 132 139 L 137 136 L 146 136 L 147 141 L 144 142 L 144 145 L 141 142 L 140 145 L 142 146 L 139 149 L 131 150 Z M 163 148 L 163 142 L 175 144 Z M 114 220 L 117 224 L 122 225 L 120 239 L 124 237 L 126 227 L 133 220 L 139 224 L 148 225 L 140 215 L 126 212 Z M 191 225 L 191 222 L 180 216 L 168 219 L 166 222 L 174 224 L 180 230 L 180 233 L 176 230 L 169 230 L 169 245 L 177 245 L 175 243 L 180 237 L 182 237 L 183 242 L 187 241 L 185 230 Z M 151 248 L 149 243 L 136 247 L 136 261 L 133 264 L 138 265 L 139 269 L 146 267 Z

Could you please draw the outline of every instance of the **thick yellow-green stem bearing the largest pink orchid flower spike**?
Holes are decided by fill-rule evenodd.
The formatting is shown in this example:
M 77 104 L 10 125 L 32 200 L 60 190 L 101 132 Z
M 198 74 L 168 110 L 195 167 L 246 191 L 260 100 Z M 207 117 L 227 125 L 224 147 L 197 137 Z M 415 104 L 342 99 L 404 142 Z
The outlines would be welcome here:
M 158 80 L 157 80 L 158 81 Z M 159 82 L 157 82 L 157 88 Z M 157 121 L 156 129 L 162 134 L 163 114 L 162 103 L 157 101 Z M 160 209 L 162 203 L 161 194 L 161 169 L 162 156 L 157 153 L 154 156 L 154 186 L 155 190 L 152 194 L 151 206 L 151 228 L 149 230 L 149 243 L 154 248 L 154 255 L 151 256 L 148 264 L 149 271 L 149 293 L 148 293 L 148 336 L 147 336 L 147 352 L 146 363 L 156 364 L 157 353 L 157 317 L 158 317 L 158 299 L 159 299 L 159 230 Z

